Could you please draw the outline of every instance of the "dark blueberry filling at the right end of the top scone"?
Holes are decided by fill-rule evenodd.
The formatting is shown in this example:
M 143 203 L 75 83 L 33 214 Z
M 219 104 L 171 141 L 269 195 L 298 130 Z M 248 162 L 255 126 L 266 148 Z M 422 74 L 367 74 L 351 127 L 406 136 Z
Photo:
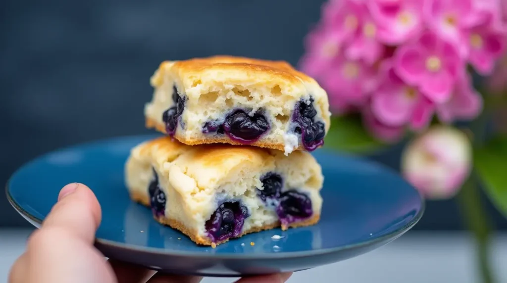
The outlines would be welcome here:
M 310 104 L 298 102 L 292 119 L 297 125 L 294 132 L 301 135 L 303 146 L 308 151 L 313 151 L 324 144 L 325 125 L 322 122 L 315 122 L 315 115 L 317 110 L 313 107 L 313 98 L 310 98 Z

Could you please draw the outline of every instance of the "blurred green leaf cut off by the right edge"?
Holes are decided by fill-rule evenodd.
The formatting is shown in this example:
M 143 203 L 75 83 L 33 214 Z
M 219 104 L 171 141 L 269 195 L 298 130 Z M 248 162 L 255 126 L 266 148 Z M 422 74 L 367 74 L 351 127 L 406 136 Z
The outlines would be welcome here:
M 507 137 L 496 137 L 474 152 L 474 166 L 484 189 L 507 217 Z

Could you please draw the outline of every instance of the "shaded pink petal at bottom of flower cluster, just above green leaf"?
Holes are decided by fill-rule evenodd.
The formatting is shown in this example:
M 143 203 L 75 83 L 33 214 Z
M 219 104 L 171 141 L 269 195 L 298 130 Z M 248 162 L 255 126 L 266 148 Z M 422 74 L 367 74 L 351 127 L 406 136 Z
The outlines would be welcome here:
M 383 124 L 375 117 L 370 107 L 365 107 L 362 112 L 363 125 L 375 138 L 386 143 L 395 143 L 403 138 L 404 127 Z

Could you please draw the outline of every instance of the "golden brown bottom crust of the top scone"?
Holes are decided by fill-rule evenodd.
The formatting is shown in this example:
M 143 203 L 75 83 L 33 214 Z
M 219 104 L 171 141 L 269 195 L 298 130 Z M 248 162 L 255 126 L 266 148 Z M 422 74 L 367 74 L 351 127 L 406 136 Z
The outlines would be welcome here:
M 146 118 L 146 127 L 148 129 L 155 129 L 155 130 L 159 131 L 160 133 L 167 134 L 167 132 L 165 131 L 164 125 L 162 125 L 160 123 L 157 123 L 155 120 L 153 120 L 151 118 L 148 118 L 148 117 Z M 229 139 L 227 137 L 212 137 L 210 139 L 198 139 L 198 140 L 197 139 L 193 139 L 193 140 L 189 140 L 189 139 L 184 139 L 182 137 L 179 137 L 176 134 L 176 135 L 174 135 L 174 138 L 176 140 L 178 140 L 180 143 L 183 143 L 183 144 L 186 144 L 186 145 L 226 143 L 226 144 L 231 144 L 231 145 L 242 145 L 242 146 L 244 146 L 244 144 L 239 143 L 239 142 L 234 141 L 234 140 L 231 140 L 231 139 Z M 277 150 L 281 150 L 281 151 L 285 150 L 285 145 L 278 144 L 278 143 L 267 143 L 267 142 L 263 142 L 263 141 L 256 141 L 256 142 L 253 142 L 253 143 L 251 143 L 249 145 L 250 146 L 263 147 L 263 148 L 277 149 Z M 294 150 L 304 150 L 304 147 L 302 145 L 300 145 L 299 147 L 295 148 Z

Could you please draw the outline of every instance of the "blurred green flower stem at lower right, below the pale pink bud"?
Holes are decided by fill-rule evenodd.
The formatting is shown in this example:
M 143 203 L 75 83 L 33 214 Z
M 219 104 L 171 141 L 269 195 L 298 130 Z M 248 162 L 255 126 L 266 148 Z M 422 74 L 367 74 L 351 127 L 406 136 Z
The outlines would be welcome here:
M 489 262 L 491 224 L 481 203 L 481 194 L 475 176 L 470 176 L 458 194 L 461 214 L 466 225 L 475 235 L 477 264 L 483 283 L 495 282 Z

